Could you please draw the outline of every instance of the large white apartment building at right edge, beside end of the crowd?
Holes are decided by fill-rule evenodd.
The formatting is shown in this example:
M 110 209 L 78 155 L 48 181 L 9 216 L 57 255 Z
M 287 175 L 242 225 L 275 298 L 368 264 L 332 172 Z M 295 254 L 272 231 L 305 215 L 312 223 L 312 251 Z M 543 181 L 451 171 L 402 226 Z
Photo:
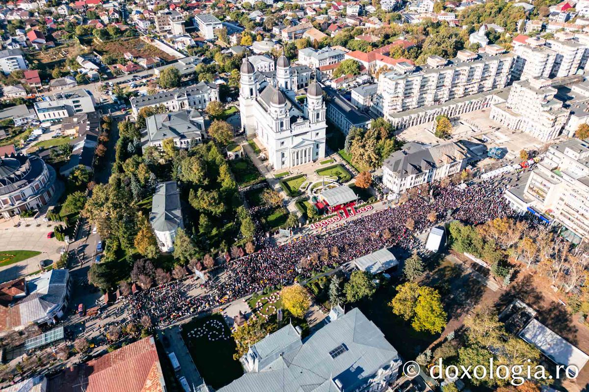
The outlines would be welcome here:
M 505 198 L 548 225 L 560 223 L 581 238 L 589 236 L 589 141 L 570 139 L 551 146 L 525 185 Z

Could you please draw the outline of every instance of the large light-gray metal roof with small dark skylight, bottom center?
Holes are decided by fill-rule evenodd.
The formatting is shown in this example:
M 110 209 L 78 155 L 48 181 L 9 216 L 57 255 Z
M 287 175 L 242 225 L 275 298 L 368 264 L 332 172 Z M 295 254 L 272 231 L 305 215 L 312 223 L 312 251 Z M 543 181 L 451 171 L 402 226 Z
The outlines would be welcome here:
M 369 378 L 383 367 L 393 366 L 394 378 L 401 365 L 397 351 L 382 331 L 358 309 L 326 324 L 302 344 L 297 344 L 295 339 L 299 338 L 293 333 L 296 331 L 288 325 L 252 346 L 262 348 L 258 353 L 280 351 L 280 355 L 219 392 L 351 391 L 368 384 Z M 276 334 L 282 345 L 274 343 Z

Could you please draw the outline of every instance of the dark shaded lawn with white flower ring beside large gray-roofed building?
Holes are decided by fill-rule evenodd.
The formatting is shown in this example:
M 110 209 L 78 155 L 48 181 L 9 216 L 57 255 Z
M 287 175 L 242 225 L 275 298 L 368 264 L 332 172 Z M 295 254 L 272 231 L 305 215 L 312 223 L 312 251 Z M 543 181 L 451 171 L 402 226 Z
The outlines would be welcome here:
M 188 336 L 188 332 L 204 326 L 209 320 L 219 320 L 223 323 L 224 334 L 229 339 L 209 340 L 206 336 Z M 213 331 L 213 327 L 209 326 Z M 241 364 L 233 359 L 237 346 L 231 337 L 231 331 L 223 316 L 215 313 L 211 316 L 193 319 L 182 326 L 182 337 L 198 372 L 215 390 L 226 386 L 231 381 L 243 375 Z

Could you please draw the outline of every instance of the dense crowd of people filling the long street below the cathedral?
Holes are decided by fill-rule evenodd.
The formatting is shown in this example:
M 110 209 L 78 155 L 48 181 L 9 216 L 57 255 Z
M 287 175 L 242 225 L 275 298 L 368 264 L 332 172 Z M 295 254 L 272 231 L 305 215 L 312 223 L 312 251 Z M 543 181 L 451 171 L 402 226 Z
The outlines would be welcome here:
M 180 283 L 168 284 L 163 290 L 156 287 L 136 293 L 130 299 L 131 317 L 138 320 L 148 314 L 157 320 L 158 327 L 163 327 L 266 287 L 292 284 L 299 275 L 311 276 L 313 270 L 342 265 L 383 247 L 401 247 L 411 252 L 419 246 L 413 233 L 432 226 L 428 220 L 432 210 L 439 222 L 457 219 L 475 225 L 512 213 L 502 197 L 502 189 L 494 182 L 464 188 L 435 186 L 431 196 L 415 197 L 398 207 L 350 220 L 327 235 L 310 234 L 282 246 L 263 247 L 227 264 L 219 278 L 204 283 L 207 294 L 202 296 L 186 297 Z M 409 218 L 415 222 L 413 230 L 406 226 Z M 383 235 L 385 229 L 390 235 Z M 325 248 L 332 250 L 334 246 L 338 250 L 335 254 L 329 252 L 327 257 L 314 257 L 313 262 L 305 263 L 313 253 Z

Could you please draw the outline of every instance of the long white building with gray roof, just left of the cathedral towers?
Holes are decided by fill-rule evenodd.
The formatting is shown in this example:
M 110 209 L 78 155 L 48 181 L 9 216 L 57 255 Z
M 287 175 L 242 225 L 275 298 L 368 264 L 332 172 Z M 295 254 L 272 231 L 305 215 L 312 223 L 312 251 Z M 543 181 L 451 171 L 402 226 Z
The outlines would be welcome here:
M 196 85 L 162 91 L 154 95 L 135 96 L 131 100 L 131 110 L 137 117 L 141 108 L 158 105 L 166 106 L 168 112 L 186 109 L 206 109 L 209 102 L 219 100 L 219 88 L 215 83 L 199 82 Z

